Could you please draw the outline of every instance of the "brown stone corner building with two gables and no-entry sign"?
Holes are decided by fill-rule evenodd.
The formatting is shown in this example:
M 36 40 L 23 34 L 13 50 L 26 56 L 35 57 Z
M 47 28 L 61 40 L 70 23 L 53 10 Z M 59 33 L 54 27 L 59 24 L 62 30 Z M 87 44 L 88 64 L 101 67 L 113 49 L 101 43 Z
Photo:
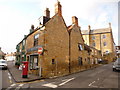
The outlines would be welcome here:
M 34 29 L 32 25 L 30 33 L 16 47 L 18 61 L 29 62 L 29 73 L 47 78 L 94 66 L 91 53 L 96 49 L 84 44 L 76 16 L 72 17 L 72 25 L 66 26 L 59 1 L 55 4 L 54 16 L 50 18 L 50 11 L 46 8 L 45 15 L 38 20 L 39 26 Z M 38 53 L 40 48 L 43 48 L 42 54 Z

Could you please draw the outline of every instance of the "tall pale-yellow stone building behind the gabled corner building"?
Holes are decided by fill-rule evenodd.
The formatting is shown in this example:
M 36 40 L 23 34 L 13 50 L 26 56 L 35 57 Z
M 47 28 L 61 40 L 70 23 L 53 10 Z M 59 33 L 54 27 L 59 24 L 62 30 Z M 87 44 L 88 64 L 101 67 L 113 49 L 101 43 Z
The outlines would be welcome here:
M 115 45 L 112 35 L 111 24 L 108 28 L 93 29 L 90 25 L 88 30 L 82 30 L 85 44 L 101 51 L 104 60 L 111 62 L 115 59 Z

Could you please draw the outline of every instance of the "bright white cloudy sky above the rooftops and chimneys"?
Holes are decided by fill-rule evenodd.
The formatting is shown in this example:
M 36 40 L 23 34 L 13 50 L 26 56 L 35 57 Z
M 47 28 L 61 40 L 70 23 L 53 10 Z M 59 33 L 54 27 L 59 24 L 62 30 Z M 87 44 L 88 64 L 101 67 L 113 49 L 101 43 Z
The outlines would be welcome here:
M 118 45 L 118 1 L 119 0 L 59 0 L 63 18 L 69 26 L 72 16 L 78 17 L 82 30 L 107 28 L 110 22 L 115 44 Z M 29 34 L 33 24 L 39 25 L 38 18 L 49 8 L 54 14 L 57 0 L 0 0 L 0 47 L 2 51 L 15 52 L 16 45 Z

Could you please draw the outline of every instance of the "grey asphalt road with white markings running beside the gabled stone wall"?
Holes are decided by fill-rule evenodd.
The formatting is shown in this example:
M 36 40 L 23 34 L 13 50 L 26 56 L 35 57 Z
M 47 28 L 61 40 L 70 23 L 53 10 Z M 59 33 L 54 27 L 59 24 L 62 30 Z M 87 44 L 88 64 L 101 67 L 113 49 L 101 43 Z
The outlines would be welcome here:
M 3 71 L 6 75 L 8 71 Z M 112 63 L 97 68 L 54 79 L 37 80 L 28 83 L 15 83 L 3 76 L 3 87 L 16 88 L 118 88 L 119 72 L 112 71 Z M 8 83 L 9 82 L 9 83 Z M 7 85 L 7 86 L 6 86 Z

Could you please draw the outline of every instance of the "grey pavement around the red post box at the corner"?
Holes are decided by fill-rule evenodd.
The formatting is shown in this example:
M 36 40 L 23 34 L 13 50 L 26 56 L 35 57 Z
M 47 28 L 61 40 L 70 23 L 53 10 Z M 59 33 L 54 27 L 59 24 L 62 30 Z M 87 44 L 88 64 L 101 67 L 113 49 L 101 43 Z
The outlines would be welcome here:
M 13 61 L 8 61 L 8 71 L 13 77 L 14 81 L 17 83 L 21 82 L 31 82 L 35 80 L 40 80 L 41 78 L 37 75 L 28 74 L 27 78 L 22 78 L 22 70 L 19 70 Z

